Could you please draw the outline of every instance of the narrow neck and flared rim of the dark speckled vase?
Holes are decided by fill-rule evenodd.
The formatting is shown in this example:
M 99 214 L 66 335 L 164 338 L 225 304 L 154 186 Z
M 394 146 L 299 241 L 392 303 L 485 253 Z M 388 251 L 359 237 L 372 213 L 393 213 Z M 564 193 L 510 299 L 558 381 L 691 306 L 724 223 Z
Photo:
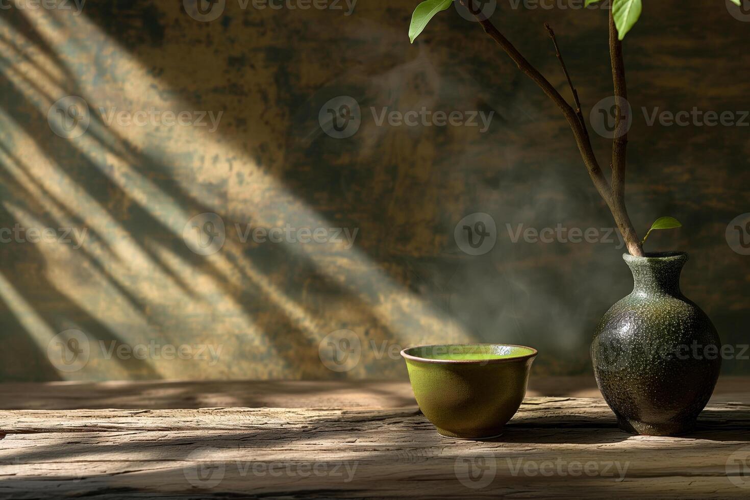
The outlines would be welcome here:
M 682 252 L 647 253 L 645 257 L 623 256 L 633 273 L 633 293 L 682 295 L 679 274 L 688 260 Z

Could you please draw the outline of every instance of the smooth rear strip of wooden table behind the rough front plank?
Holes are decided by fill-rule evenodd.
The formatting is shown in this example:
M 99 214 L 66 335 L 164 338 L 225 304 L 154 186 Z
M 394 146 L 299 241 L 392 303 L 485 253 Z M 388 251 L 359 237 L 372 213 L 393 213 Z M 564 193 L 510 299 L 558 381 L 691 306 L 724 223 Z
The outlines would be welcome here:
M 745 393 L 747 377 L 721 377 L 714 397 Z M 593 376 L 532 376 L 527 397 L 601 397 Z M 0 409 L 386 409 L 414 406 L 406 380 L 149 380 L 0 384 Z

